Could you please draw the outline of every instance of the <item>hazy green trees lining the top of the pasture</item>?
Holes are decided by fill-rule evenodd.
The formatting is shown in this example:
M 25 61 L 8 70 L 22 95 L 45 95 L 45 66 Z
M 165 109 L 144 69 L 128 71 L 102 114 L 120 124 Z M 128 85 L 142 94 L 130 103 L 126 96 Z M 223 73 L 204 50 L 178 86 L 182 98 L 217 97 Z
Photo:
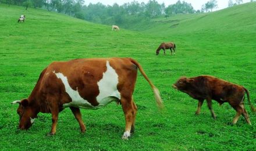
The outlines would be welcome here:
M 26 9 L 42 8 L 48 11 L 65 13 L 102 24 L 129 24 L 130 22 L 152 19 L 154 17 L 165 15 L 166 17 L 179 13 L 200 13 L 209 12 L 218 7 L 216 0 L 209 0 L 202 5 L 201 10 L 194 10 L 191 3 L 177 1 L 175 4 L 165 6 L 164 3 L 158 3 L 156 0 L 149 0 L 147 3 L 137 1 L 112 6 L 102 3 L 90 3 L 83 5 L 84 0 L 0 0 L 9 5 L 23 5 Z M 253 1 L 253 0 L 251 0 Z M 240 4 L 242 0 L 229 0 L 229 4 Z M 232 3 L 232 4 L 231 4 Z

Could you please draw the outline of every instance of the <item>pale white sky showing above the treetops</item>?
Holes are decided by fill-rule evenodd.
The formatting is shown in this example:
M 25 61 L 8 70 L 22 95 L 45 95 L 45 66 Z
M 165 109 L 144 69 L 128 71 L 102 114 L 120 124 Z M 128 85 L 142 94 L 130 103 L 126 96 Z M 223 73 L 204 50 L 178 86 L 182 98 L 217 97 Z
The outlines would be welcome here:
M 88 5 L 89 3 L 97 3 L 97 2 L 101 2 L 104 5 L 113 5 L 113 3 L 118 3 L 118 5 L 122 5 L 123 3 L 127 3 L 127 2 L 132 2 L 134 0 L 84 0 L 84 4 Z M 141 3 L 141 2 L 145 2 L 147 3 L 148 0 L 136 0 L 137 2 Z M 170 4 L 176 3 L 178 0 L 157 0 L 158 3 L 165 3 L 165 6 L 168 6 Z M 191 3 L 191 5 L 193 6 L 193 8 L 195 10 L 201 10 L 201 6 L 204 3 L 207 3 L 209 0 L 181 0 L 181 1 L 185 1 L 187 3 Z M 218 9 L 215 10 L 219 10 L 219 9 L 223 9 L 223 8 L 227 8 L 227 2 L 229 0 L 217 0 L 218 2 Z M 234 1 L 234 0 L 233 0 Z M 246 2 L 250 2 L 250 0 L 243 0 L 244 3 Z

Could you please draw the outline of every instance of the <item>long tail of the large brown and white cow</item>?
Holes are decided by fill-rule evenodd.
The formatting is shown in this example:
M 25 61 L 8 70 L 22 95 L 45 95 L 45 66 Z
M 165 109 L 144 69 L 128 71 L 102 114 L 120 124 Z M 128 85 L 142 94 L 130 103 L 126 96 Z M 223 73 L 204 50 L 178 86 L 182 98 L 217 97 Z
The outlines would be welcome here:
M 150 79 L 148 78 L 148 76 L 145 74 L 143 68 L 140 66 L 140 64 L 134 60 L 134 59 L 131 59 L 131 62 L 133 64 L 135 64 L 137 67 L 138 67 L 138 70 L 140 70 L 140 73 L 143 75 L 143 77 L 145 78 L 145 80 L 148 81 L 148 83 L 150 84 L 150 87 L 152 88 L 153 92 L 154 92 L 154 95 L 155 95 L 155 100 L 157 102 L 157 106 L 159 109 L 163 109 L 163 102 L 162 102 L 162 99 L 161 99 L 161 96 L 160 96 L 160 92 L 158 90 L 157 87 L 155 87 L 155 85 L 150 81 Z

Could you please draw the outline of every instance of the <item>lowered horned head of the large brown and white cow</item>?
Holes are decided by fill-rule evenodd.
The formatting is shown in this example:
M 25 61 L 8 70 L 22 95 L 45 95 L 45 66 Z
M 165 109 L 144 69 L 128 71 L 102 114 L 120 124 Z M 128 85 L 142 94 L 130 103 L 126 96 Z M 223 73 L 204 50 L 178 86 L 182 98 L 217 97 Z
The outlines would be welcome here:
M 34 123 L 35 118 L 37 117 L 37 113 L 35 112 L 34 107 L 32 107 L 29 103 L 29 100 L 15 100 L 12 104 L 19 104 L 17 109 L 17 114 L 19 114 L 19 128 L 21 130 L 27 130 Z

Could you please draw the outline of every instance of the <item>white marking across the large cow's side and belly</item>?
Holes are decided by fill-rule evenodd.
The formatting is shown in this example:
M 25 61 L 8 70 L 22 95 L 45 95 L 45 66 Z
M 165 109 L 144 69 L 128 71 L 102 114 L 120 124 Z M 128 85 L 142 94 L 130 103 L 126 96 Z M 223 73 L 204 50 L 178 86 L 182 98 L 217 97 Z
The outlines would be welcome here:
M 55 71 L 53 71 L 55 73 Z M 116 71 L 110 66 L 109 62 L 106 62 L 106 72 L 103 73 L 103 77 L 98 81 L 99 95 L 97 96 L 98 106 L 91 105 L 90 102 L 81 98 L 78 90 L 73 90 L 67 77 L 65 77 L 62 73 L 55 73 L 58 78 L 60 78 L 65 85 L 65 89 L 67 94 L 69 94 L 72 102 L 66 103 L 63 107 L 81 107 L 84 109 L 99 109 L 102 106 L 106 106 L 108 103 L 112 101 L 118 101 L 120 99 L 120 93 L 118 91 L 118 74 Z

